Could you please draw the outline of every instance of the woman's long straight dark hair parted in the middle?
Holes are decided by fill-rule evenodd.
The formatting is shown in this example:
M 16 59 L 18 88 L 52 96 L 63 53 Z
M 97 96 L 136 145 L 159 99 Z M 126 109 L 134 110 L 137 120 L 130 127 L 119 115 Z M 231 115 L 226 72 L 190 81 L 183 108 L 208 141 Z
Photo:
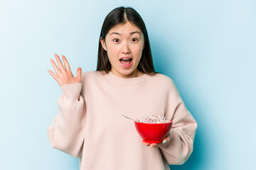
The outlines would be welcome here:
M 102 25 L 102 30 L 100 31 L 100 38 L 105 40 L 107 33 L 111 28 L 117 25 L 123 25 L 124 23 L 130 23 L 137 26 L 142 33 L 144 34 L 144 49 L 142 50 L 142 58 L 138 64 L 138 70 L 146 74 L 156 74 L 154 71 L 154 65 L 149 45 L 149 36 L 146 32 L 146 26 L 142 17 L 139 16 L 139 13 L 134 10 L 134 8 L 120 6 L 114 8 L 110 13 L 107 14 L 105 21 Z M 110 72 L 111 64 L 110 60 L 107 57 L 107 51 L 102 47 L 102 44 L 99 40 L 99 50 L 98 50 L 98 59 L 97 59 L 97 71 Z

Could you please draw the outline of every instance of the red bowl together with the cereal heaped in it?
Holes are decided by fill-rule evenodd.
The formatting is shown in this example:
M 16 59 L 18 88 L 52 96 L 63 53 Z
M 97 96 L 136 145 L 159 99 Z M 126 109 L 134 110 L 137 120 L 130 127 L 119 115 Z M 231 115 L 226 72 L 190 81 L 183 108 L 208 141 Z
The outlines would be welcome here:
M 172 121 L 162 115 L 146 115 L 134 121 L 143 142 L 161 143 L 171 130 Z

